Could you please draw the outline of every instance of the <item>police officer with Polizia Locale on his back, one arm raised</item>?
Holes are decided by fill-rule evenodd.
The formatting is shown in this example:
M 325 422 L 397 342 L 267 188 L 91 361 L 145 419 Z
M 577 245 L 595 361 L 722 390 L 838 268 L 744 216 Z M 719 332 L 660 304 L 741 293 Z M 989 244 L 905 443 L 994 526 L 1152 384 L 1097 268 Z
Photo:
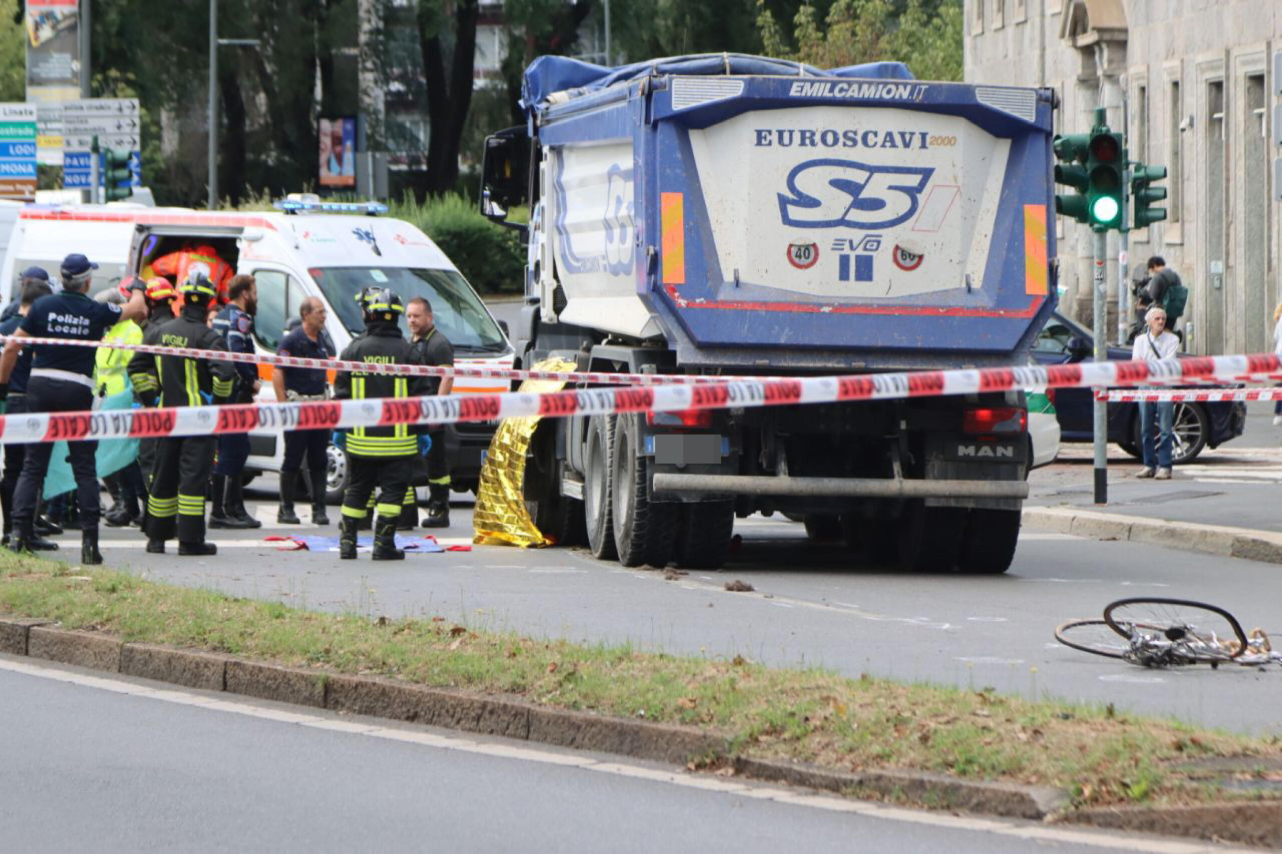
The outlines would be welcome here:
M 88 297 L 90 283 L 97 264 L 81 254 L 63 259 L 60 269 L 63 292 L 41 297 L 27 312 L 14 337 L 5 344 L 0 356 L 0 399 L 9 394 L 9 380 L 18 363 L 18 350 L 23 337 L 71 339 L 101 341 L 103 336 L 121 321 L 138 321 L 146 313 L 142 297 L 144 285 L 135 281 L 126 305 L 97 303 Z M 94 347 L 37 346 L 27 381 L 26 408 L 28 413 L 87 412 L 94 406 Z M 13 549 L 26 551 L 35 539 L 33 515 L 36 500 L 49 472 L 51 442 L 40 442 L 27 449 L 22 474 L 13 496 L 14 539 Z M 97 494 L 97 442 L 68 442 L 72 472 L 81 512 L 81 562 L 103 563 L 97 549 L 97 522 L 101 513 Z

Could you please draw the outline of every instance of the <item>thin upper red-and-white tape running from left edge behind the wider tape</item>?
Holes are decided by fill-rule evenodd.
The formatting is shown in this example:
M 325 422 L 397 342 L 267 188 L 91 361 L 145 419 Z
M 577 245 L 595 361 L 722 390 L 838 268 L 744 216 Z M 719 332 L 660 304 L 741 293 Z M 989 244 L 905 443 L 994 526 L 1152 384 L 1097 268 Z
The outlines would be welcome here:
M 278 368 L 313 368 L 319 371 L 359 371 L 362 373 L 386 373 L 397 377 L 479 377 L 487 380 L 553 380 L 568 383 L 614 385 L 614 386 L 677 386 L 705 382 L 724 382 L 726 377 L 687 376 L 670 373 L 604 373 L 585 371 L 519 371 L 517 368 L 486 368 L 481 365 L 424 365 L 424 364 L 382 364 L 364 362 L 344 362 L 341 359 L 308 359 L 303 356 L 282 356 L 267 353 L 228 353 L 227 350 L 200 350 L 196 347 L 174 347 L 159 344 L 123 344 L 121 341 L 78 341 L 74 339 L 37 339 L 33 336 L 0 335 L 0 342 L 13 337 L 24 346 L 74 346 L 108 347 L 110 350 L 129 350 L 147 355 L 172 355 L 188 359 L 214 359 L 237 364 L 271 364 Z

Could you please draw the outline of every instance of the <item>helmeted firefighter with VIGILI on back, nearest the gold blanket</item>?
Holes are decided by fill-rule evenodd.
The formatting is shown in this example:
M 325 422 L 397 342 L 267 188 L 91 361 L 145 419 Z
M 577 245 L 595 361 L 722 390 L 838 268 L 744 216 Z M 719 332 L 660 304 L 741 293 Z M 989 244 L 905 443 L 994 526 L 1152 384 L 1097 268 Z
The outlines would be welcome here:
M 387 289 L 367 289 L 362 297 L 365 332 L 347 345 L 340 358 L 346 362 L 422 364 L 397 326 L 405 310 L 400 297 Z M 333 392 L 340 400 L 417 398 L 427 392 L 427 386 L 424 377 L 342 371 L 335 380 Z M 396 548 L 396 519 L 420 439 L 426 445 L 426 428 L 418 424 L 353 427 L 341 436 L 347 451 L 349 480 L 338 527 L 340 558 L 356 557 L 356 528 L 369 514 L 368 501 L 376 486 L 378 504 L 374 507 L 373 558 L 400 560 L 405 557 Z

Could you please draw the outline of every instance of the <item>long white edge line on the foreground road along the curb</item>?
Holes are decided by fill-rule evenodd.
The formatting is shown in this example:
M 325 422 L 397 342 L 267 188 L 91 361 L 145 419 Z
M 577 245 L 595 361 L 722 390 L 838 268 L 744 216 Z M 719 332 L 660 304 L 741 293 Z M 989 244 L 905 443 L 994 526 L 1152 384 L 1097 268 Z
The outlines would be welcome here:
M 515 759 L 520 762 L 537 762 L 551 766 L 578 767 L 596 773 L 649 780 L 662 785 L 700 789 L 726 794 L 733 798 L 773 800 L 790 807 L 805 807 L 809 809 L 823 809 L 835 813 L 855 813 L 881 821 L 928 825 L 933 827 L 946 827 L 955 831 L 995 833 L 997 836 L 1014 836 L 1017 839 L 1041 840 L 1047 842 L 1142 851 L 1144 854 L 1210 854 L 1211 851 L 1242 851 L 1242 854 L 1246 854 L 1246 849 L 1231 849 L 1205 842 L 1150 840 L 1144 837 L 1117 836 L 1106 831 L 1061 830 L 1059 827 L 1020 823 L 1004 818 L 978 818 L 953 816 L 942 812 L 918 812 L 904 809 L 901 807 L 887 807 L 873 801 L 837 798 L 835 795 L 812 794 L 805 789 L 786 790 L 772 786 L 758 786 L 750 780 L 728 780 L 709 774 L 687 773 L 681 769 L 665 771 L 662 768 L 633 766 L 626 762 L 601 762 L 599 759 L 592 759 L 591 757 L 556 753 L 553 750 L 540 750 L 537 748 L 505 742 L 477 742 L 470 739 L 438 735 L 433 732 L 419 732 L 415 730 L 356 723 L 354 721 L 341 721 L 314 714 L 294 713 L 285 709 L 255 705 L 253 703 L 221 700 L 199 694 L 188 694 L 187 691 L 151 689 L 145 685 L 135 685 L 133 682 L 126 682 L 122 680 L 87 676 L 83 673 L 74 673 L 72 671 L 41 667 L 38 664 L 29 664 L 27 662 L 13 660 L 4 657 L 0 657 L 0 669 L 10 671 L 13 673 L 23 673 L 37 678 L 53 680 L 56 682 L 96 687 L 113 694 L 124 694 L 140 699 L 159 700 L 162 703 L 174 703 L 177 705 L 188 705 L 203 709 L 214 709 L 229 714 L 241 714 L 245 717 L 272 721 L 274 723 L 305 726 L 314 730 L 326 730 L 363 737 L 386 739 L 388 741 L 401 741 L 404 744 L 414 744 L 440 750 L 455 750 L 459 753 L 473 753 L 478 755 L 499 757 L 503 759 Z

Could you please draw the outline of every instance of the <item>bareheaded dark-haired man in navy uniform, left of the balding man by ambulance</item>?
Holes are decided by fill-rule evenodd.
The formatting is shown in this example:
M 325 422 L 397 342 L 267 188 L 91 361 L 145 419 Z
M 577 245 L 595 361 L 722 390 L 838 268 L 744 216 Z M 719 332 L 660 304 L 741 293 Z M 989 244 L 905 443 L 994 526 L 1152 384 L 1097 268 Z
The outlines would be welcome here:
M 235 276 L 227 287 L 231 300 L 214 318 L 217 332 L 232 353 L 254 353 L 254 314 L 258 313 L 258 285 L 253 276 Z M 232 403 L 253 403 L 262 382 L 258 365 L 232 363 L 240 382 Z M 227 433 L 218 437 L 218 462 L 214 464 L 213 498 L 209 510 L 212 528 L 260 528 L 263 523 L 245 509 L 245 483 L 241 474 L 249 459 L 249 433 Z

